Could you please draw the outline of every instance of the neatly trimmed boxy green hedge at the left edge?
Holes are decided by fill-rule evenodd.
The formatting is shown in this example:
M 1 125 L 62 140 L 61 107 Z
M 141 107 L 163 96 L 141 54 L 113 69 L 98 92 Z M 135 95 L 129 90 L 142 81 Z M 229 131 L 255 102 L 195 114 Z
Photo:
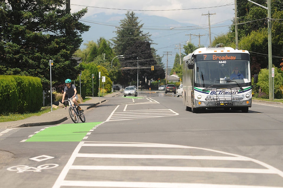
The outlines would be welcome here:
M 42 84 L 38 77 L 0 75 L 0 114 L 39 111 Z

